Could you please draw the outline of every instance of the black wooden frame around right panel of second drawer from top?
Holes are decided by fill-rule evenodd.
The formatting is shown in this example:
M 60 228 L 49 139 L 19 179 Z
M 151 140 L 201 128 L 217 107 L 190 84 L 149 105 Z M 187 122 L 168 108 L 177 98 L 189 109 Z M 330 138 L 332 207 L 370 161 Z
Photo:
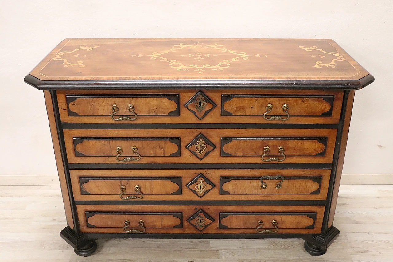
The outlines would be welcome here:
M 322 152 L 316 155 L 302 155 L 302 157 L 323 157 L 326 153 L 327 137 L 221 137 L 221 156 L 222 157 L 233 157 L 230 153 L 224 151 L 224 145 L 232 142 L 232 140 L 317 140 L 323 144 L 324 149 Z M 261 155 L 244 155 L 234 157 L 260 157 Z M 288 155 L 290 157 L 290 155 Z

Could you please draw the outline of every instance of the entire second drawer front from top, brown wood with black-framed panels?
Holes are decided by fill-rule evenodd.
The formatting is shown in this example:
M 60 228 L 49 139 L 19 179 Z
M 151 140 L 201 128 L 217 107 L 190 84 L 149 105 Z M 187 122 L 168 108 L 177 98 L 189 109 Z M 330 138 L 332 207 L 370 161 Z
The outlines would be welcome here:
M 331 163 L 337 129 L 65 129 L 69 163 Z

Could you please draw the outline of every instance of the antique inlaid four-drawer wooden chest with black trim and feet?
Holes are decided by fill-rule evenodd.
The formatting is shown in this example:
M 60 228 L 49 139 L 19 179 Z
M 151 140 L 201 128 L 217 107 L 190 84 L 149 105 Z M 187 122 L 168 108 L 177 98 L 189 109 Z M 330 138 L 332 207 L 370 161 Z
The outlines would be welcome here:
M 67 227 L 97 238 L 303 238 L 322 255 L 354 90 L 329 39 L 65 39 L 44 90 Z

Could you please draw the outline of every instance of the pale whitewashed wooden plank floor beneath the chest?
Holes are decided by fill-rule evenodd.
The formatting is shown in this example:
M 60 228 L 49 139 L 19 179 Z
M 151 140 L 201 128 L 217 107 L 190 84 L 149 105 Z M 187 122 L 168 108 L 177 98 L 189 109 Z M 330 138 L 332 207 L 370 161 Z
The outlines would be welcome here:
M 393 185 L 341 185 L 334 225 L 341 231 L 323 256 L 299 239 L 110 239 L 75 255 L 54 175 L 0 176 L 0 262 L 392 262 Z

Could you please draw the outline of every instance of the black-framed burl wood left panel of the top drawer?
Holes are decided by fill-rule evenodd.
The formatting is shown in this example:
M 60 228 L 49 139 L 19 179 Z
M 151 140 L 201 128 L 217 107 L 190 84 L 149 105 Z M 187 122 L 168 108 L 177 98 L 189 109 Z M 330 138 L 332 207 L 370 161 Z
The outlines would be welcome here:
M 116 116 L 130 115 L 132 104 L 138 116 L 179 116 L 178 94 L 68 94 L 68 116 L 110 117 L 115 104 Z

